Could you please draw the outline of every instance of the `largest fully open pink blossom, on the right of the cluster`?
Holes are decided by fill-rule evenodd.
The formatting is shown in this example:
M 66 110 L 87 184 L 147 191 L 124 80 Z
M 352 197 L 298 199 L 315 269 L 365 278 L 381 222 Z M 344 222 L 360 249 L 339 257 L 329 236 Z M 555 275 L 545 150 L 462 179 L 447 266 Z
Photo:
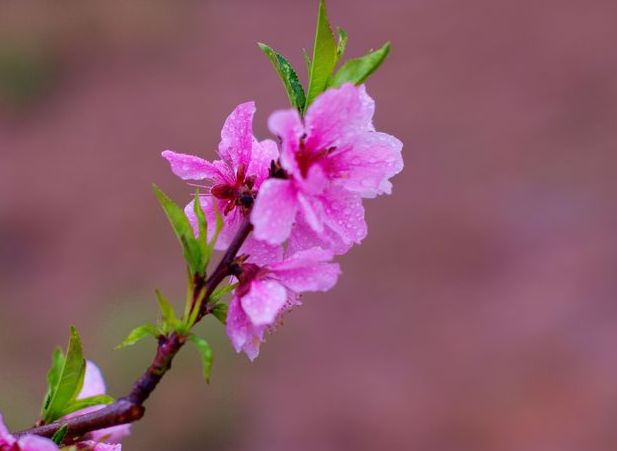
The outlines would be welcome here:
M 362 241 L 361 199 L 389 194 L 389 179 L 403 168 L 403 145 L 375 131 L 374 109 L 364 86 L 345 84 L 320 95 L 304 122 L 294 109 L 270 116 L 282 140 L 281 168 L 259 190 L 251 214 L 257 239 L 282 243 L 298 223 L 298 245 L 319 243 L 340 254 Z

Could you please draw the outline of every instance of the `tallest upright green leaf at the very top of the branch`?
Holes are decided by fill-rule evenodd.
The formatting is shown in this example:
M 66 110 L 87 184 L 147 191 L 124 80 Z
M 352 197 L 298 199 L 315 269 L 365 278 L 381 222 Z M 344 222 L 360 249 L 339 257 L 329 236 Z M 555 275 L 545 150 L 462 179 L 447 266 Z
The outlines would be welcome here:
M 326 90 L 328 80 L 336 66 L 337 45 L 334 40 L 332 28 L 328 22 L 326 2 L 319 2 L 317 27 L 315 30 L 315 46 L 313 47 L 313 59 L 309 74 L 309 87 L 304 110 L 315 98 Z

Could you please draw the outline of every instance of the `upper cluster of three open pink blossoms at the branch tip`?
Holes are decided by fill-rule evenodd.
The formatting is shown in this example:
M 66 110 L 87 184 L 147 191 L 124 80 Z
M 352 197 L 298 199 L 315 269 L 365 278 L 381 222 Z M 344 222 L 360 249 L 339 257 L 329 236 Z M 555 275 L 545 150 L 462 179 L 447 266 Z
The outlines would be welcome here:
M 389 179 L 403 168 L 402 143 L 375 130 L 374 110 L 364 85 L 329 89 L 304 117 L 296 109 L 270 116 L 279 146 L 254 137 L 255 105 L 248 102 L 223 126 L 220 160 L 163 152 L 178 177 L 208 183 L 185 209 L 196 234 L 195 201 L 209 223 L 217 212 L 224 216 L 217 249 L 229 246 L 246 218 L 253 225 L 237 259 L 227 315 L 234 348 L 251 360 L 303 292 L 335 285 L 340 268 L 332 259 L 367 233 L 362 200 L 389 194 Z

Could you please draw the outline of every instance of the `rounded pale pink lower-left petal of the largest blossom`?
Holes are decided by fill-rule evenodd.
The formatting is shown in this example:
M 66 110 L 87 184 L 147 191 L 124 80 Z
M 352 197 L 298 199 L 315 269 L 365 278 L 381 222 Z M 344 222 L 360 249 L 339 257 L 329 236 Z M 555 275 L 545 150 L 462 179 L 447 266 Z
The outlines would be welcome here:
M 255 238 L 280 244 L 291 232 L 297 212 L 295 188 L 289 180 L 268 179 L 259 189 L 251 222 Z

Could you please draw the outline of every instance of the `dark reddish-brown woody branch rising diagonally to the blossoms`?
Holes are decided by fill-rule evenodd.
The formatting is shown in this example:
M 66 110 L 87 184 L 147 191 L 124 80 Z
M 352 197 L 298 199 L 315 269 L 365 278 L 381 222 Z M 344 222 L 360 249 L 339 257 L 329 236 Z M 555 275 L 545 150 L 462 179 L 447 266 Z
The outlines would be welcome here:
M 205 281 L 206 292 L 204 300 L 206 301 L 201 305 L 196 323 L 210 313 L 211 306 L 207 300 L 210 298 L 216 287 L 223 280 L 225 280 L 226 277 L 231 275 L 230 270 L 232 263 L 236 259 L 240 247 L 242 247 L 242 244 L 252 230 L 253 226 L 251 225 L 247 215 L 246 219 L 238 229 L 236 236 L 214 269 L 214 272 Z M 199 292 L 203 288 L 202 284 L 203 281 L 200 284 L 194 285 L 194 298 L 199 296 Z M 53 423 L 17 432 L 14 435 L 20 437 L 27 434 L 34 434 L 43 437 L 52 437 L 58 429 L 64 425 L 67 425 L 68 431 L 65 438 L 72 439 L 80 437 L 91 431 L 132 423 L 139 420 L 145 413 L 145 407 L 143 406 L 144 402 L 152 394 L 167 371 L 169 371 L 172 360 L 180 348 L 184 345 L 185 341 L 186 337 L 179 335 L 177 332 L 172 332 L 167 336 L 159 337 L 156 354 L 148 369 L 139 379 L 137 379 L 131 392 L 123 398 L 118 399 L 113 404 L 103 407 L 96 412 L 69 419 L 60 419 Z

